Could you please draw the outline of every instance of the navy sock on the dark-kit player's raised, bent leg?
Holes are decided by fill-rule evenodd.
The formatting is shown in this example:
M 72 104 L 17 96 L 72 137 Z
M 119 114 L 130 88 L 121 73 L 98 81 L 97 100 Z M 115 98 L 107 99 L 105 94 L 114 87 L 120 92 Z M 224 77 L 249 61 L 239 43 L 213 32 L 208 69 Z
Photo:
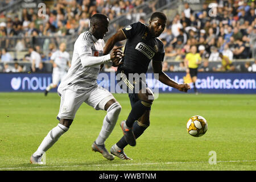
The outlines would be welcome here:
M 144 102 L 144 101 L 137 101 L 133 108 L 131 109 L 131 112 L 128 116 L 128 118 L 126 119 L 126 125 L 128 127 L 132 127 L 134 121 L 138 120 L 146 110 L 150 110 L 151 109 L 151 105 L 152 103 L 148 103 L 148 102 Z

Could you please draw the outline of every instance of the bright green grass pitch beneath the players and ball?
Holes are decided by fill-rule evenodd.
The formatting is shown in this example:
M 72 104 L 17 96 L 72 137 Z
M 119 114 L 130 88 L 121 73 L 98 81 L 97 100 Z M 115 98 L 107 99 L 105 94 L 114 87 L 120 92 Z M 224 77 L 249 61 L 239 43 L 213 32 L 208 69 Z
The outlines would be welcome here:
M 114 96 L 122 111 L 106 141 L 108 149 L 122 137 L 119 123 L 130 111 L 127 94 Z M 69 131 L 47 151 L 46 165 L 32 165 L 31 154 L 58 123 L 59 104 L 56 93 L 0 93 L 0 170 L 256 169 L 255 95 L 160 94 L 152 105 L 150 127 L 137 146 L 125 148 L 133 158 L 129 161 L 108 161 L 91 150 L 105 111 L 83 104 Z M 208 121 L 203 137 L 187 133 L 186 123 L 193 115 Z M 217 164 L 209 164 L 210 151 L 216 152 Z

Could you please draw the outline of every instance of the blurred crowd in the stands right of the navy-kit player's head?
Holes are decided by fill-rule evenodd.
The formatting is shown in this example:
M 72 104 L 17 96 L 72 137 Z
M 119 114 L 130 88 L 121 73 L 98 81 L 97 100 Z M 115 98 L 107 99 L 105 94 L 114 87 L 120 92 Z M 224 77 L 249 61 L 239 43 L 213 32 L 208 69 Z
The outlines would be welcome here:
M 166 50 L 166 56 L 175 61 L 184 61 L 192 46 L 197 46 L 203 64 L 221 61 L 220 53 L 229 60 L 253 59 L 256 51 L 256 9 L 253 1 L 216 1 L 216 15 L 211 8 L 203 5 L 201 11 L 193 11 L 188 3 L 174 19 L 167 24 L 160 35 Z M 205 63 L 204 63 L 205 62 Z M 169 70 L 173 65 L 165 63 Z M 248 69 L 244 69 L 244 68 Z M 182 67 L 180 67 L 182 68 Z M 235 67 L 233 68 L 236 71 Z M 214 71 L 214 69 L 211 69 Z M 239 71 L 255 71 L 250 61 L 246 61 Z

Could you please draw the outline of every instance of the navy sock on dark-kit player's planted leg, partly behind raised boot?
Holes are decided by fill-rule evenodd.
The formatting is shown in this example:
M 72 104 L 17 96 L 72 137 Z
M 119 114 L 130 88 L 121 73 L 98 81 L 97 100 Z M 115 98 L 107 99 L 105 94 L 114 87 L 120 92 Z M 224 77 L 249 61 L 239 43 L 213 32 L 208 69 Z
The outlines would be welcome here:
M 143 132 L 147 129 L 147 125 L 143 125 L 140 122 L 134 122 L 133 123 L 133 133 L 135 135 L 135 138 L 139 138 Z M 127 146 L 127 142 L 125 141 L 125 137 L 122 137 L 118 142 L 117 142 L 117 146 L 119 148 L 125 148 Z

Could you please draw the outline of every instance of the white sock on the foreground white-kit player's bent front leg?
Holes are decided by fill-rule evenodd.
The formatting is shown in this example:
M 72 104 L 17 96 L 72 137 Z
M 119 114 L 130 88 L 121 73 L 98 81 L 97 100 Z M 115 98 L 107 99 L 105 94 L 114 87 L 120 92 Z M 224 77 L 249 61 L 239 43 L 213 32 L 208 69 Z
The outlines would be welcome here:
M 105 140 L 109 137 L 110 133 L 112 133 L 115 127 L 115 123 L 117 123 L 117 119 L 121 111 L 121 108 L 121 105 L 119 105 L 117 102 L 109 106 L 107 114 L 103 120 L 103 125 L 100 134 L 96 139 L 97 144 L 104 144 Z

